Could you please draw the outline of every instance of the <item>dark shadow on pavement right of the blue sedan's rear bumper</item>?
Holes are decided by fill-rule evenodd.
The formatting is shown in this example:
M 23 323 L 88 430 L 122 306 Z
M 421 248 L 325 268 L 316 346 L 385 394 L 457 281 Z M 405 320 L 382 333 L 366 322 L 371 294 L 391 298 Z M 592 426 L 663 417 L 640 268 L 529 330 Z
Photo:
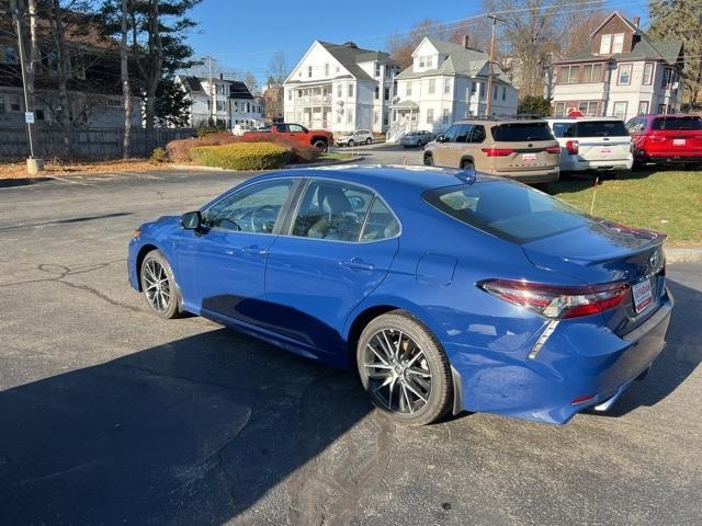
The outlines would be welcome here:
M 652 407 L 672 393 L 702 362 L 702 293 L 667 281 L 676 299 L 667 346 L 648 376 L 634 381 L 604 416 L 623 416 L 639 407 Z

